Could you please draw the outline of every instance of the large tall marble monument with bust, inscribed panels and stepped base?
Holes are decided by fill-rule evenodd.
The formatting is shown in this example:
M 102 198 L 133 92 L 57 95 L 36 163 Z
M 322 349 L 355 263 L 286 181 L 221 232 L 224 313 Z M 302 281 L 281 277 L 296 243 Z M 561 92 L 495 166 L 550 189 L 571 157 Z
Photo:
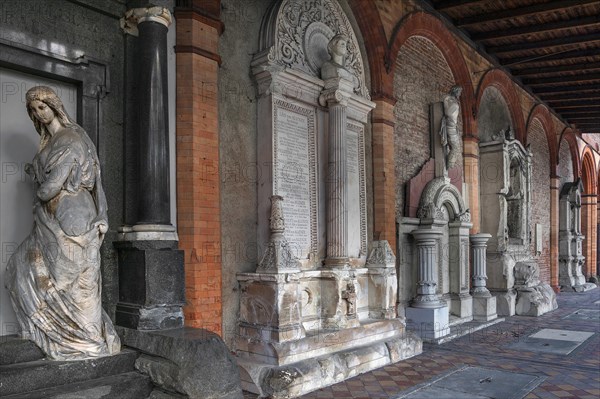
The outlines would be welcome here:
M 238 275 L 237 353 L 244 389 L 289 397 L 418 354 L 421 340 L 396 318 L 389 244 L 367 236 L 374 104 L 350 21 L 335 0 L 277 1 L 259 48 L 257 148 L 272 180 L 258 187 L 262 261 Z

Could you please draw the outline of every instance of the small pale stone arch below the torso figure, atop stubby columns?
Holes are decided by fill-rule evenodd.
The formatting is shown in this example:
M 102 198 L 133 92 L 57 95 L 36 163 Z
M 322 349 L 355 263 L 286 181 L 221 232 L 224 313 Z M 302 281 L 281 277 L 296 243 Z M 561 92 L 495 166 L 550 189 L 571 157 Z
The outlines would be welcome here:
M 450 184 L 448 178 L 438 177 L 425 186 L 419 201 L 417 217 L 420 219 L 441 219 L 443 206 L 453 213 L 450 216 L 454 216 L 454 218 L 450 221 L 469 222 L 471 220 L 469 210 L 466 208 L 458 189 Z

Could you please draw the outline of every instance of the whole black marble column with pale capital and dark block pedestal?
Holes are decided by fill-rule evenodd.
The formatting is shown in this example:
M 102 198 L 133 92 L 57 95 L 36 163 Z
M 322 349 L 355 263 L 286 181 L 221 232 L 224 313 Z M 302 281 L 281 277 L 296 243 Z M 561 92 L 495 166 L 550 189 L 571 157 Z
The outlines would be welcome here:
M 169 196 L 169 98 L 167 32 L 170 12 L 163 7 L 134 8 L 121 20 L 123 30 L 137 37 L 130 43 L 129 93 L 136 99 L 127 132 L 134 137 L 138 176 L 136 209 L 120 229 L 114 246 L 119 254 L 119 303 L 116 324 L 136 330 L 183 327 L 185 305 L 184 254 L 171 225 Z M 135 54 L 135 56 L 133 56 Z M 129 117 L 130 115 L 126 115 Z

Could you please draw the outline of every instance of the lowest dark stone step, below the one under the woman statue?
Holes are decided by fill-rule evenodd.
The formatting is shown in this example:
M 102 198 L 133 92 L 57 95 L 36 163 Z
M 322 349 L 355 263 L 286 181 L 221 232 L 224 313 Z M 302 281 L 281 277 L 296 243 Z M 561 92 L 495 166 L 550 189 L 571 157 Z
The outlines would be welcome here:
M 2 396 L 3 399 L 143 399 L 154 386 L 150 377 L 135 371 L 54 388 Z

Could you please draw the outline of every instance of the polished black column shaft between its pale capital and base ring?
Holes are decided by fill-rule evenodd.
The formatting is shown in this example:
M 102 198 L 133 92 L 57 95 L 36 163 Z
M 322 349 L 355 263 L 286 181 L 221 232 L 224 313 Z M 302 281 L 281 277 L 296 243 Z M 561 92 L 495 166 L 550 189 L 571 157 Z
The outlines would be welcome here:
M 137 224 L 171 224 L 167 31 L 159 22 L 138 24 L 140 197 Z

